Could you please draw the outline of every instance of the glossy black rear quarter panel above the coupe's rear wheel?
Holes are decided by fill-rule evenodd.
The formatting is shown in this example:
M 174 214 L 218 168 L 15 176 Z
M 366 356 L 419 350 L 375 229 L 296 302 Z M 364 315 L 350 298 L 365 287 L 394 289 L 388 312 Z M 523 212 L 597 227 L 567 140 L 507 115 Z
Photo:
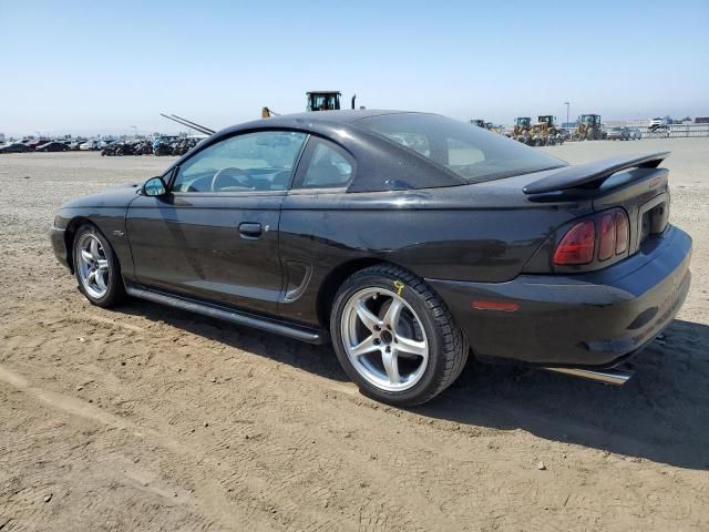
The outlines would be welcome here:
M 429 279 L 510 280 L 555 227 L 590 208 L 533 204 L 516 186 L 511 194 L 485 185 L 289 194 L 279 226 L 281 260 L 307 265 L 311 275 L 297 299 L 284 301 L 281 315 L 317 324 L 323 279 L 353 260 L 386 260 Z

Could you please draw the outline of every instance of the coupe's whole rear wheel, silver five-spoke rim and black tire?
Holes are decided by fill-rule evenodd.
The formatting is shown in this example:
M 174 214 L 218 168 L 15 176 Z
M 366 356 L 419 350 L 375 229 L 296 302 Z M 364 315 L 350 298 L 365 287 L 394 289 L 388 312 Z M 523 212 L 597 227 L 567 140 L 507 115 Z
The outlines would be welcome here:
M 330 316 L 340 364 L 362 393 L 389 405 L 425 402 L 458 378 L 467 345 L 445 304 L 401 268 L 372 266 L 340 288 Z

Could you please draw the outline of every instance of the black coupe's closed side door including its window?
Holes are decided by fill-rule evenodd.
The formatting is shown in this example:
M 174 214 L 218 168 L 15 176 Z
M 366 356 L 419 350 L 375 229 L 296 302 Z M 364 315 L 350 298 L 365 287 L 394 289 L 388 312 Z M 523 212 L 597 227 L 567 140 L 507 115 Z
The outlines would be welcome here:
M 282 289 L 280 207 L 306 134 L 260 131 L 207 145 L 141 195 L 126 227 L 148 288 L 276 314 Z

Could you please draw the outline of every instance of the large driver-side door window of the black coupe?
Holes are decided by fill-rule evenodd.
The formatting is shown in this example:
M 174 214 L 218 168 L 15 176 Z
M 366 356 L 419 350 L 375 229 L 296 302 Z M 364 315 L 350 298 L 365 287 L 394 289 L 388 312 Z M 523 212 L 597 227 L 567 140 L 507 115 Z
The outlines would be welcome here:
M 285 191 L 305 133 L 260 131 L 226 139 L 179 166 L 174 192 Z

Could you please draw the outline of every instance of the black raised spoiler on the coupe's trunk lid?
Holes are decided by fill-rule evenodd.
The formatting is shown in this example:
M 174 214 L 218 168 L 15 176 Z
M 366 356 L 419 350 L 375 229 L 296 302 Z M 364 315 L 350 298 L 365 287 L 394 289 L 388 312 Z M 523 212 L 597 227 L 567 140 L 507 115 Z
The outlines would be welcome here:
M 656 168 L 669 155 L 658 152 L 648 155 L 617 156 L 593 163 L 564 166 L 552 175 L 530 183 L 522 188 L 525 194 L 544 194 L 568 188 L 589 188 L 600 184 L 616 172 L 627 168 Z

